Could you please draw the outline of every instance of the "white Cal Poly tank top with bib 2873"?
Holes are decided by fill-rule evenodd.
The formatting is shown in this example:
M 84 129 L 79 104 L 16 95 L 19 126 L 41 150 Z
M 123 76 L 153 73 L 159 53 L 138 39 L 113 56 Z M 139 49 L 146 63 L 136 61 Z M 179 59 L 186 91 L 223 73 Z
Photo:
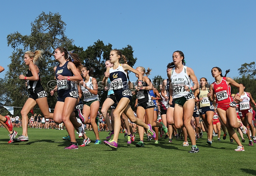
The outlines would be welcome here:
M 174 92 L 174 96 L 172 98 L 176 99 L 189 94 L 190 92 L 187 92 L 184 89 L 184 86 L 192 87 L 190 82 L 190 77 L 187 75 L 187 66 L 183 66 L 183 70 L 180 73 L 175 72 L 175 67 L 172 68 L 171 85 Z

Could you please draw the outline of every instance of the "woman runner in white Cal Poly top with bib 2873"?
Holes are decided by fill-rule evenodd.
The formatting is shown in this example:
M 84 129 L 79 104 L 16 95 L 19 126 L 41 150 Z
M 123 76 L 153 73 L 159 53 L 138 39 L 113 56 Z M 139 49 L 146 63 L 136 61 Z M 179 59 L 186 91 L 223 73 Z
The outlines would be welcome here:
M 194 75 L 194 71 L 185 66 L 184 59 L 185 57 L 182 51 L 175 51 L 172 54 L 172 65 L 175 67 L 167 73 L 171 82 L 169 104 L 172 104 L 172 99 L 174 99 L 175 127 L 178 129 L 183 125 L 185 126 L 192 144 L 189 153 L 197 153 L 199 149 L 196 146 L 196 137 L 194 135 L 194 129 L 191 126 L 191 119 L 194 111 L 194 94 L 192 91 L 198 89 L 198 81 L 196 75 Z M 191 86 L 191 80 L 194 86 Z

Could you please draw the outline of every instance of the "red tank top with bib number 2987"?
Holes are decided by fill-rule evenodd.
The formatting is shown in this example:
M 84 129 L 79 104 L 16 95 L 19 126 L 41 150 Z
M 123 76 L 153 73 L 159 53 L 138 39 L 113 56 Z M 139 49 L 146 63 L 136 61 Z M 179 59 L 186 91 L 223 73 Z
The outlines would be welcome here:
M 216 94 L 216 104 L 226 104 L 233 101 L 231 87 L 226 82 L 226 77 L 222 77 L 222 81 L 219 84 L 213 83 L 213 91 Z

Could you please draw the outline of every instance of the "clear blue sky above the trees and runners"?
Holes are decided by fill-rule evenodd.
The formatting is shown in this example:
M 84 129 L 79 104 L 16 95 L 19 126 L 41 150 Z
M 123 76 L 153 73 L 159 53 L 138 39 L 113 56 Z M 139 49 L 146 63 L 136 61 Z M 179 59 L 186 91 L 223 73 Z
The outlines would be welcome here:
M 42 13 L 59 12 L 66 35 L 87 48 L 98 39 L 113 48 L 133 47 L 134 66 L 153 69 L 149 78 L 166 76 L 172 53 L 183 51 L 186 66 L 197 78 L 214 79 L 214 66 L 229 77 L 241 64 L 255 61 L 256 1 L 3 1 L 0 11 L 1 66 L 8 69 L 12 48 L 6 37 L 16 31 L 30 35 L 31 22 Z M 0 73 L 4 78 L 5 71 Z M 130 75 L 131 80 L 136 77 Z

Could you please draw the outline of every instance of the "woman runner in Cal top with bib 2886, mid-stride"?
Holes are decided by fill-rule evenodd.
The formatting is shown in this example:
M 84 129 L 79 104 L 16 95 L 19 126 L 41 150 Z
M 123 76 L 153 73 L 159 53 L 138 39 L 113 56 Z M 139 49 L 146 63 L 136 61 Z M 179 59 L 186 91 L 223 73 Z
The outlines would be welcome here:
M 136 123 L 139 126 L 144 127 L 148 132 L 155 138 L 155 132 L 152 130 L 151 125 L 146 125 L 141 119 L 136 118 L 133 114 L 132 108 L 130 108 L 130 100 L 132 99 L 132 93 L 129 90 L 128 86 L 128 79 L 127 79 L 127 71 L 131 71 L 133 73 L 136 73 L 139 77 L 139 83 L 138 86 L 143 89 L 142 85 L 142 74 L 130 67 L 127 64 L 119 64 L 119 60 L 123 59 L 126 63 L 126 57 L 122 55 L 121 51 L 119 50 L 112 50 L 110 52 L 110 62 L 113 64 L 113 67 L 108 67 L 105 73 L 105 77 L 103 81 L 106 83 L 108 77 L 111 81 L 111 86 L 113 87 L 114 94 L 116 96 L 116 100 L 118 102 L 118 105 L 116 107 L 116 110 L 113 112 L 114 116 L 114 137 L 110 141 L 104 141 L 106 145 L 109 145 L 110 147 L 117 148 L 117 140 L 119 135 L 119 130 L 121 128 L 121 119 L 120 116 L 122 112 L 130 119 L 131 122 Z

